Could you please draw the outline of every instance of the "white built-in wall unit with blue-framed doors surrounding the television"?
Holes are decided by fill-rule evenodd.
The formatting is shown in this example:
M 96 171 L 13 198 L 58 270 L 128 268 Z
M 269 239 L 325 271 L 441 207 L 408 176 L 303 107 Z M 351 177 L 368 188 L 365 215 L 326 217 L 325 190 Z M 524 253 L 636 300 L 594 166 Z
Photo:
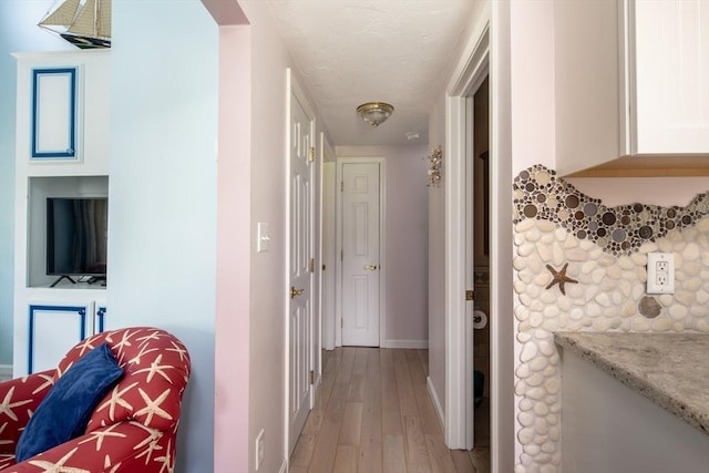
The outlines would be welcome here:
M 55 368 L 103 331 L 106 287 L 48 268 L 48 199 L 109 193 L 111 51 L 19 52 L 17 61 L 14 377 Z M 107 246 L 107 233 L 105 234 Z M 103 244 L 104 241 L 102 241 Z M 66 251 L 65 248 L 62 249 Z M 59 282 L 59 284 L 56 284 Z

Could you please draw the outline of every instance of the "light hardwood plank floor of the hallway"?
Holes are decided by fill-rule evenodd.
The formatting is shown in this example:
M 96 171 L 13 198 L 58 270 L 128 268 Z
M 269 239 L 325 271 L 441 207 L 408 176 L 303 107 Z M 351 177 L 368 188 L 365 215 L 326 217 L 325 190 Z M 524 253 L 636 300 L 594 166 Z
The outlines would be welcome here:
M 489 473 L 490 449 L 449 450 L 429 398 L 428 350 L 323 352 L 316 405 L 290 473 Z

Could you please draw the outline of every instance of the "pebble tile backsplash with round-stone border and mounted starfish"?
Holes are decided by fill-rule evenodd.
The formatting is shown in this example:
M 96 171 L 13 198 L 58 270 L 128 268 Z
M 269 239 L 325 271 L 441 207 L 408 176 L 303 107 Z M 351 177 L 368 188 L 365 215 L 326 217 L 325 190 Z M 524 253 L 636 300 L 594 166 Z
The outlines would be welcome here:
M 709 332 L 709 191 L 685 207 L 607 207 L 542 165 L 514 192 L 515 473 L 562 463 L 553 332 Z M 647 295 L 647 254 L 675 254 L 672 295 Z

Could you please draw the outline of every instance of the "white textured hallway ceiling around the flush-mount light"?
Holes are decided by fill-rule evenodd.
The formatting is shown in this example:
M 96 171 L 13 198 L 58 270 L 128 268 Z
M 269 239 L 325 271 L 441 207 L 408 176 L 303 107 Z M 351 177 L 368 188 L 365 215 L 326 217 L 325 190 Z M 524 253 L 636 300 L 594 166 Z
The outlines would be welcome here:
M 333 145 L 428 142 L 428 111 L 475 0 L 267 1 Z M 378 128 L 354 112 L 370 101 L 395 109 Z

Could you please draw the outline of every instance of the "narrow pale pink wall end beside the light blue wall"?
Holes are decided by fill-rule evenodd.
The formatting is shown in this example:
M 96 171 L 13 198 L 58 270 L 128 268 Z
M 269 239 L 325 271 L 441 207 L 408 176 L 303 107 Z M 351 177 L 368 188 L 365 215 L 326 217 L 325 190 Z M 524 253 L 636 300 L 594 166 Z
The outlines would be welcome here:
M 249 452 L 250 28 L 219 29 L 219 165 L 215 330 L 215 471 L 247 471 Z M 237 130 L 238 133 L 233 133 Z M 238 203 L 238 204 L 237 204 Z M 235 212 L 238 209 L 238 212 Z

